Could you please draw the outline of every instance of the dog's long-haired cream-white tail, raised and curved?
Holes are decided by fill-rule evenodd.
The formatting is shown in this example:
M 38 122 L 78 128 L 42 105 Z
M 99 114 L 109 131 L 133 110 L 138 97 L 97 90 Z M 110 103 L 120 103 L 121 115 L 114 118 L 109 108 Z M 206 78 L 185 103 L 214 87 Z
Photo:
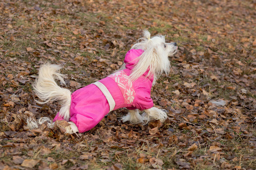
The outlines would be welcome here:
M 70 118 L 71 91 L 66 88 L 61 88 L 55 82 L 55 79 L 59 79 L 62 84 L 65 84 L 63 79 L 65 75 L 58 73 L 60 69 L 61 66 L 59 65 L 50 65 L 49 63 L 42 65 L 39 69 L 38 79 L 35 80 L 33 87 L 35 94 L 39 99 L 43 100 L 43 102 L 36 102 L 43 104 L 49 101 L 59 100 L 61 102 L 59 114 L 64 120 L 68 121 Z

